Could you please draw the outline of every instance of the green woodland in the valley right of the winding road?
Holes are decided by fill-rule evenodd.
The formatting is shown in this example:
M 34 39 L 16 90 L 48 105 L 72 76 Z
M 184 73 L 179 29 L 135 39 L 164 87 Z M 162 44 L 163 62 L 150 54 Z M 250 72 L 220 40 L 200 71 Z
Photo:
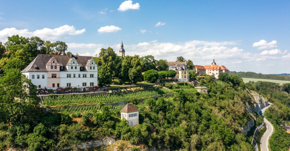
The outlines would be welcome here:
M 285 124 L 290 125 L 290 83 L 279 85 L 272 82 L 248 82 L 246 87 L 257 91 L 268 98 L 272 106 L 265 111 L 265 117 L 275 127 L 272 134 L 270 148 L 272 151 L 288 151 L 290 146 L 290 134 L 284 129 Z

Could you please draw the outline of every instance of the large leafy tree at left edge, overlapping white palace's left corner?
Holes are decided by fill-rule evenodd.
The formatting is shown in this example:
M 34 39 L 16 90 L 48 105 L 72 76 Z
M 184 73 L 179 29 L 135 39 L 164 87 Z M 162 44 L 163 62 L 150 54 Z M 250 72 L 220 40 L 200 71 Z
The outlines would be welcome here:
M 19 69 L 8 69 L 0 77 L 0 103 L 9 108 L 9 121 L 14 122 L 16 117 L 21 117 L 18 114 L 38 105 L 36 86 Z

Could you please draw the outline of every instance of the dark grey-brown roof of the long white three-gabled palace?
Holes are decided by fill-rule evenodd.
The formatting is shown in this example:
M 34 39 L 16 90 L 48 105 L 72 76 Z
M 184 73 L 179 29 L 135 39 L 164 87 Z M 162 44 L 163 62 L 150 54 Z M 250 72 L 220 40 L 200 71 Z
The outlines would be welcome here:
M 63 66 L 63 70 L 60 71 L 67 71 L 66 65 L 68 64 L 69 60 L 72 56 L 65 56 L 65 55 L 47 55 L 47 54 L 39 54 L 37 57 L 21 72 L 47 72 L 46 64 L 48 61 L 55 57 L 60 66 Z M 92 59 L 92 56 L 73 56 L 76 58 L 76 61 L 79 63 L 80 67 L 84 67 L 80 71 L 87 71 L 85 66 L 88 60 Z M 35 68 L 37 67 L 37 68 Z

